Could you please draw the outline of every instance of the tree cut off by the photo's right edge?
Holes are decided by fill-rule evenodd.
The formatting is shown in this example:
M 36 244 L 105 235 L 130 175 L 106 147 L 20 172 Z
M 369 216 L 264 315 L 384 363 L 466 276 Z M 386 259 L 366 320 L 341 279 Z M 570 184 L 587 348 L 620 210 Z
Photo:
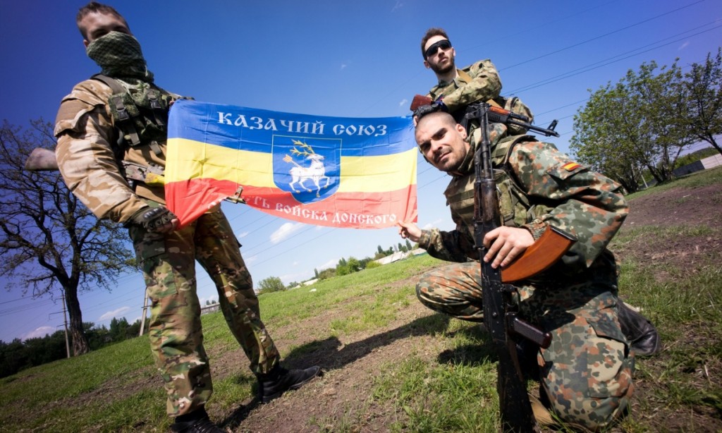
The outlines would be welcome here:
M 682 88 L 687 101 L 683 120 L 695 139 L 707 141 L 722 154 L 716 136 L 722 134 L 722 48 L 716 58 L 707 54 L 704 64 L 692 64 Z

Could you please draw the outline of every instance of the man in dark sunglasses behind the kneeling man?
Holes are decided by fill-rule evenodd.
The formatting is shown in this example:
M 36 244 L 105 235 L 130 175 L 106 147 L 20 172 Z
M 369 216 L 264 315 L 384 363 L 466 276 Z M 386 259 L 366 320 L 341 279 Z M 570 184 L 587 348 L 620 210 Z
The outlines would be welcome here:
M 500 107 L 525 115 L 529 122 L 534 119 L 531 110 L 517 97 L 500 96 L 501 79 L 496 66 L 488 58 L 466 66 L 456 68 L 456 50 L 451 45 L 445 30 L 432 27 L 421 39 L 421 53 L 424 66 L 434 71 L 438 84 L 429 91 L 430 100 L 443 103 L 445 109 L 461 123 L 466 107 L 474 102 L 489 102 Z M 473 135 L 474 123 L 469 128 Z M 511 126 L 510 134 L 526 132 L 520 126 Z

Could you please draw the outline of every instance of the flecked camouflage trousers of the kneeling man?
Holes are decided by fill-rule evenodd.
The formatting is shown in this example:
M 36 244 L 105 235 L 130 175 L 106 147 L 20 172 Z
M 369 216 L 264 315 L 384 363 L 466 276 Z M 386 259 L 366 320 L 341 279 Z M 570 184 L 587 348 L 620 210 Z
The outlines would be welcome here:
M 483 322 L 479 263 L 458 263 L 424 274 L 417 297 L 432 310 Z M 550 410 L 570 424 L 597 430 L 627 407 L 634 355 L 617 320 L 616 271 L 590 268 L 563 284 L 519 285 L 521 317 L 552 333 L 536 356 Z

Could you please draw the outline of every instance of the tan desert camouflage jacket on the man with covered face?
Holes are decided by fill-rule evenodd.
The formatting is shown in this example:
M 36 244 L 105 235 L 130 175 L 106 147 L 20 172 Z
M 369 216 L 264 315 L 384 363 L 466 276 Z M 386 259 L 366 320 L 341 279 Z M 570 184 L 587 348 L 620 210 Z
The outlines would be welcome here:
M 162 95 L 170 95 L 155 86 Z M 162 185 L 139 183 L 131 188 L 114 154 L 118 131 L 113 124 L 107 84 L 87 79 L 63 98 L 54 134 L 58 139 L 56 158 L 68 188 L 98 218 L 126 222 L 147 206 L 143 198 L 165 204 Z M 122 159 L 142 166 L 165 167 L 165 140 L 160 154 L 149 146 L 126 146 Z

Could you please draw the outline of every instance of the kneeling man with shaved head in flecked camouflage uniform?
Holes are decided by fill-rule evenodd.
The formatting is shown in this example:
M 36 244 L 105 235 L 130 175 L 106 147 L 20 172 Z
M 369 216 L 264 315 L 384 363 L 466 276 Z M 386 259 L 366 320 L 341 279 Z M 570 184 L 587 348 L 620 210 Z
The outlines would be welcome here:
M 535 350 L 541 401 L 572 427 L 601 429 L 624 413 L 634 388 L 635 358 L 618 320 L 617 266 L 606 249 L 629 209 L 613 180 L 552 144 L 506 132 L 503 124 L 490 125 L 492 159 L 504 169 L 497 170 L 497 186 L 505 225 L 484 237 L 489 249 L 482 260 L 504 268 L 549 226 L 578 239 L 552 268 L 514 285 L 521 317 L 552 333 L 551 346 Z M 419 118 L 416 139 L 427 161 L 451 175 L 444 194 L 456 229 L 400 222 L 399 234 L 436 258 L 459 262 L 423 275 L 417 296 L 432 310 L 482 322 L 473 237 L 476 144 L 443 111 Z

